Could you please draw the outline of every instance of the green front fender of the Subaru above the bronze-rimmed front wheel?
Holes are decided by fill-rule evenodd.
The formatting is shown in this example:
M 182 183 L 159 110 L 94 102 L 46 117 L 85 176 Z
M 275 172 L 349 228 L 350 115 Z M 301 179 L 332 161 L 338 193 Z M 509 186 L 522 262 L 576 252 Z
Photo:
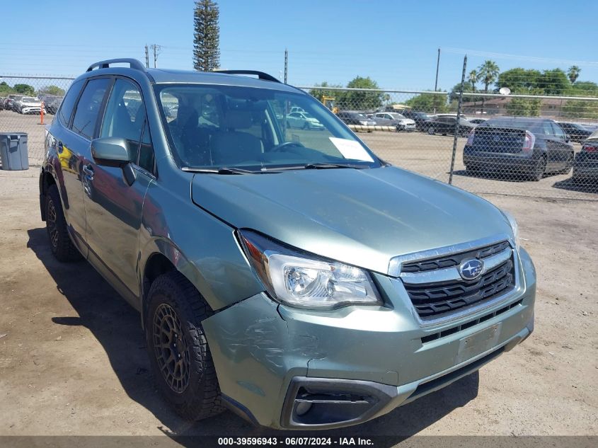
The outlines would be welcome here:
M 180 194 L 172 184 L 165 188 L 160 180 L 149 185 L 139 241 L 140 278 L 151 255 L 161 253 L 197 287 L 214 311 L 262 292 L 234 229 L 194 205 L 190 180 L 185 181 Z

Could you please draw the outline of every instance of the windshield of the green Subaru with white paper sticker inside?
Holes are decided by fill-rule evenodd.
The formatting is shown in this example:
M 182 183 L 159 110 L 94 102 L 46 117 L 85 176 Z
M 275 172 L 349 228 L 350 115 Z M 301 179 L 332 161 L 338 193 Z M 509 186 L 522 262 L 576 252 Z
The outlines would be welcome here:
M 156 96 L 181 168 L 210 172 L 243 168 L 260 173 L 326 164 L 381 166 L 372 151 L 308 95 L 266 88 L 167 84 L 156 86 Z

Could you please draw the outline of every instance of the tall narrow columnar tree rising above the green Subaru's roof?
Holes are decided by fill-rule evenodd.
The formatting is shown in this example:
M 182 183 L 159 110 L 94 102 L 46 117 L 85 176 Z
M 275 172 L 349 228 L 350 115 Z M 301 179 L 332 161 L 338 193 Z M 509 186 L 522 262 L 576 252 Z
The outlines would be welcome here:
M 198 71 L 212 71 L 220 67 L 219 9 L 212 0 L 197 0 L 193 22 L 193 68 Z

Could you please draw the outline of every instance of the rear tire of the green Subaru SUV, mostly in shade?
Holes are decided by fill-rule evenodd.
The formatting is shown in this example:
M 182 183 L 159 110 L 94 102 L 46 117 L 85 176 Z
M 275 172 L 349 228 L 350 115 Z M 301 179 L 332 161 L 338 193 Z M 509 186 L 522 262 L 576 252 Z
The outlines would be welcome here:
M 50 240 L 50 250 L 58 261 L 63 263 L 81 260 L 81 253 L 71 241 L 67 229 L 67 221 L 64 219 L 62 202 L 56 184 L 50 185 L 44 199 L 46 214 L 46 230 Z

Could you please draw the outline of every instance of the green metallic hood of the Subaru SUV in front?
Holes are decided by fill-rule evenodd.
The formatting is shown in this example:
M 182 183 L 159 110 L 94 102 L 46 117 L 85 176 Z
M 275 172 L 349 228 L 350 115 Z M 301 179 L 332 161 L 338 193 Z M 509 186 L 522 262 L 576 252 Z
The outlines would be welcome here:
M 489 202 L 391 166 L 198 173 L 191 194 L 231 226 L 381 273 L 396 255 L 512 234 Z

